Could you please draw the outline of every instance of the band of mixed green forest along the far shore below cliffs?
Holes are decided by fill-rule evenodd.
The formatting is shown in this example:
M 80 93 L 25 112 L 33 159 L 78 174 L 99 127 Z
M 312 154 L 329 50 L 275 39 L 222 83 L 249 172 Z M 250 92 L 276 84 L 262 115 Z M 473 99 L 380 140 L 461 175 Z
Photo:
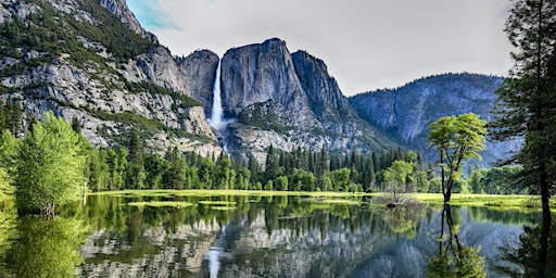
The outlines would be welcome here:
M 0 127 L 5 134 L 16 135 L 23 141 L 33 135 L 36 119 L 23 130 L 22 108 L 16 102 L 1 103 Z M 90 191 L 123 189 L 241 189 L 279 191 L 343 191 L 343 192 L 441 192 L 441 180 L 432 163 L 424 163 L 421 155 L 402 148 L 375 151 L 370 154 L 351 152 L 328 153 L 325 148 L 312 152 L 298 148 L 292 152 L 270 146 L 264 165 L 254 157 L 249 161 L 214 153 L 210 157 L 180 152 L 170 147 L 160 153 L 146 150 L 139 132 L 128 135 L 126 146 L 97 149 L 80 136 L 80 123 L 67 123 L 80 137 L 79 153 L 85 160 L 83 185 Z M 20 143 L 2 136 L 1 163 L 3 173 L 21 160 Z M 10 147 L 12 146 L 12 147 Z M 471 169 L 469 177 L 456 180 L 454 192 L 514 194 L 527 193 L 508 177 L 519 172 L 517 166 Z M 59 173 L 58 173 L 59 174 Z M 10 177 L 5 177 L 11 180 Z M 9 192 L 10 186 L 5 186 Z

